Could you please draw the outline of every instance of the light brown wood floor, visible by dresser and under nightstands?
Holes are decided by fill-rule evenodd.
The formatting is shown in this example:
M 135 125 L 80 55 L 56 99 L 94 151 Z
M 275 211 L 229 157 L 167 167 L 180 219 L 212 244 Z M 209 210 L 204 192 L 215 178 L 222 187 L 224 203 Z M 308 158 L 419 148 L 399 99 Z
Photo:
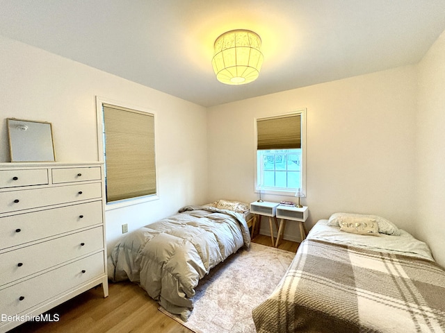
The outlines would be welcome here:
M 253 242 L 271 245 L 270 237 L 261 234 L 255 236 Z M 293 241 L 283 240 L 278 248 L 295 253 L 298 245 Z M 104 298 L 101 287 L 90 289 L 48 312 L 58 314 L 58 322 L 24 323 L 10 333 L 192 332 L 165 316 L 158 307 L 159 305 L 137 284 L 111 283 L 107 298 Z

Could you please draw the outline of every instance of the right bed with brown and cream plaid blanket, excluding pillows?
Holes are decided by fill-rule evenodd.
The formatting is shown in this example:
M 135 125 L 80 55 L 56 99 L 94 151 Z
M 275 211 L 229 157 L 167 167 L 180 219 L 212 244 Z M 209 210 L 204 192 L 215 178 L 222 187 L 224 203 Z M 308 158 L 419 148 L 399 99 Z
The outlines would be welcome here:
M 342 244 L 324 235 L 345 232 L 320 224 L 252 310 L 257 332 L 445 332 L 445 270 L 428 247 L 409 237 L 396 239 L 407 241 L 403 250 Z M 422 250 L 413 250 L 416 242 Z

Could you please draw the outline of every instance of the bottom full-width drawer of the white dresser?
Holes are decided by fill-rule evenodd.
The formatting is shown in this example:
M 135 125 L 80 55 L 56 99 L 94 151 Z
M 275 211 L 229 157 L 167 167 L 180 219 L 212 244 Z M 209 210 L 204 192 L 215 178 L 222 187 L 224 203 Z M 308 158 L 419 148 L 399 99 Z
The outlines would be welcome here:
M 104 273 L 104 253 L 99 252 L 14 284 L 0 290 L 0 314 L 6 316 L 20 314 Z

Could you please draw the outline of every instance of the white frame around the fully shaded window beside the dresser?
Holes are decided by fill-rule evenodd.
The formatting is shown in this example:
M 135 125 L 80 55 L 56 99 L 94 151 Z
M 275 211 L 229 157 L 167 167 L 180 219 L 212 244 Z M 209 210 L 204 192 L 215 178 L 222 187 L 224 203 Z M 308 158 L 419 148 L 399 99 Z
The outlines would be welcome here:
M 132 109 L 135 111 L 140 111 L 140 112 L 147 112 L 150 114 L 154 115 L 154 130 L 155 130 L 155 136 L 156 136 L 156 112 L 154 110 L 150 110 L 147 108 L 143 108 L 140 106 L 136 106 L 136 105 L 131 105 L 129 103 L 124 103 L 124 102 L 120 102 L 120 101 L 114 101 L 112 99 L 106 99 L 104 97 L 100 97 L 100 96 L 96 96 L 96 113 L 97 113 L 97 155 L 99 156 L 99 162 L 102 162 L 105 164 L 105 160 L 104 160 L 104 109 L 103 109 L 103 105 L 104 104 L 111 104 L 111 105 L 116 105 L 116 106 L 120 106 L 121 108 L 128 108 L 128 109 Z M 158 182 L 158 165 L 157 165 L 157 159 L 156 159 L 156 151 L 157 151 L 157 147 L 156 147 L 156 137 L 154 139 L 154 151 L 155 151 L 155 160 L 154 160 L 154 165 L 156 168 L 156 194 L 151 194 L 149 196 L 138 196 L 135 198 L 128 198 L 128 199 L 124 199 L 124 200 L 118 200 L 118 201 L 112 201 L 109 203 L 106 203 L 105 205 L 105 210 L 115 210 L 117 208 L 122 208 L 122 207 L 128 207 L 131 205 L 138 205 L 140 203 L 147 203 L 149 201 L 153 201 L 153 200 L 159 200 L 159 182 Z

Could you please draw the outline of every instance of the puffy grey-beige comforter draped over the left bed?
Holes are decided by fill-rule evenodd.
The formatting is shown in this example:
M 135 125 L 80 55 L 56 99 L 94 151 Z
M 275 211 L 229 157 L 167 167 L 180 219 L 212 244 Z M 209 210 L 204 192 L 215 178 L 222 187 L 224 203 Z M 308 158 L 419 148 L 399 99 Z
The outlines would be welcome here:
M 108 276 L 140 283 L 164 309 L 186 321 L 199 280 L 243 246 L 250 246 L 243 215 L 187 206 L 116 244 L 108 257 Z

